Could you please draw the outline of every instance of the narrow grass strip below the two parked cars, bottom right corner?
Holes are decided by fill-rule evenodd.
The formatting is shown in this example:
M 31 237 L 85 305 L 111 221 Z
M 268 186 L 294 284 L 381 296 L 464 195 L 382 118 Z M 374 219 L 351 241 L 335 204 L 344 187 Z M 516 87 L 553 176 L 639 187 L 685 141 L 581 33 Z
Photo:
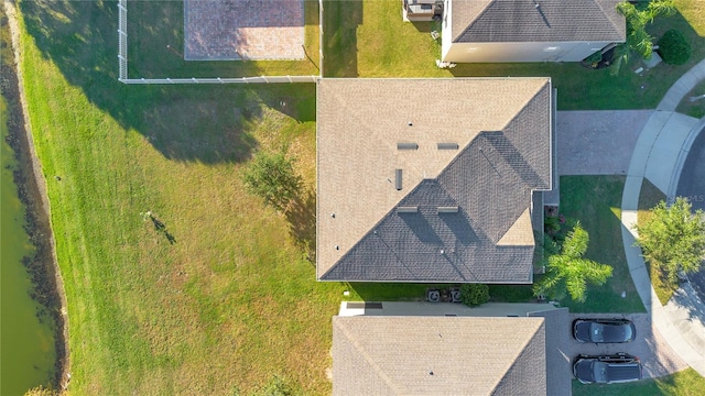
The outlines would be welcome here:
M 693 369 L 686 369 L 675 374 L 654 380 L 642 380 L 627 384 L 610 385 L 583 385 L 573 381 L 573 395 L 588 396 L 642 396 L 642 395 L 669 395 L 669 396 L 699 396 L 705 389 L 705 378 Z

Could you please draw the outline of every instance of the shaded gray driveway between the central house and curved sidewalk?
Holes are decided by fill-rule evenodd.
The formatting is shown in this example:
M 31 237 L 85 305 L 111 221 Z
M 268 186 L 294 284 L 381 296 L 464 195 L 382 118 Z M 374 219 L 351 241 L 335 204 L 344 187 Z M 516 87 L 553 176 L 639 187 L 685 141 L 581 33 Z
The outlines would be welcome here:
M 558 175 L 626 175 L 653 110 L 558 111 Z

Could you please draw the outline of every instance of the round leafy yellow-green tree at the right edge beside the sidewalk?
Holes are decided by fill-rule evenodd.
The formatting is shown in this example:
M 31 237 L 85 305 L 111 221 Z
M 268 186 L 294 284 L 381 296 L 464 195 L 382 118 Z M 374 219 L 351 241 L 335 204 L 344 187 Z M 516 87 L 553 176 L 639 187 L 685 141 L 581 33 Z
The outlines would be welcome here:
M 652 217 L 637 226 L 644 258 L 675 283 L 679 272 L 697 272 L 705 258 L 705 213 L 692 211 L 687 198 L 677 197 L 670 207 L 664 201 L 652 209 Z

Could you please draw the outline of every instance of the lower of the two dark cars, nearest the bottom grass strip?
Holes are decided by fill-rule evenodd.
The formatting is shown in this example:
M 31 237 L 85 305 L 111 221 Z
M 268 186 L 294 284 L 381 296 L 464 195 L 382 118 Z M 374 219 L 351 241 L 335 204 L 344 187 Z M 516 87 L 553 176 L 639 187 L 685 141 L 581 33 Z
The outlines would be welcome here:
M 639 358 L 618 353 L 609 356 L 578 355 L 573 374 L 583 384 L 616 384 L 641 380 Z

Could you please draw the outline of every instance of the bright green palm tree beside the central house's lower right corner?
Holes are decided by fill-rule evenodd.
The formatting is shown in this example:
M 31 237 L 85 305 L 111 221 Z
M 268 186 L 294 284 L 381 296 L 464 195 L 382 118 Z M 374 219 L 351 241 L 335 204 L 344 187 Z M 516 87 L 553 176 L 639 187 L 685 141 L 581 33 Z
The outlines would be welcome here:
M 587 284 L 603 285 L 612 275 L 612 267 L 583 258 L 589 235 L 579 222 L 568 232 L 560 254 L 549 256 L 546 274 L 534 285 L 534 294 L 563 299 L 566 293 L 575 301 L 586 298 Z

